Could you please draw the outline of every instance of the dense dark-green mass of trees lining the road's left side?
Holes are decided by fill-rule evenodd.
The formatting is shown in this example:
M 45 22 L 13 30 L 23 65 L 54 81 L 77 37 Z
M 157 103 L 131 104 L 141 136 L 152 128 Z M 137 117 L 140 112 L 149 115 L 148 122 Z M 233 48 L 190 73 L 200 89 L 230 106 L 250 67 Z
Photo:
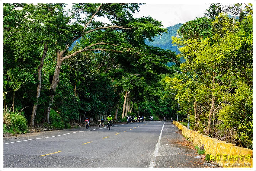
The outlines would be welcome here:
M 162 74 L 174 73 L 167 63 L 180 62 L 175 52 L 145 44 L 167 29 L 150 16 L 133 18 L 139 5 L 80 3 L 68 12 L 61 3 L 5 3 L 5 112 L 22 109 L 30 126 L 59 128 L 85 117 L 122 119 L 137 113 L 136 102 L 147 118 L 156 115 L 167 103 L 159 100 Z

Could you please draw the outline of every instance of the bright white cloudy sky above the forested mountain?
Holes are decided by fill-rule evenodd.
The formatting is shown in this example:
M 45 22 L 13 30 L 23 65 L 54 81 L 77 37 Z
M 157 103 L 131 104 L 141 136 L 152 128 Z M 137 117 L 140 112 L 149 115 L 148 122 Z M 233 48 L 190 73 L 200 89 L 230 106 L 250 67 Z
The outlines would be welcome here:
M 246 3 L 250 2 L 246 1 Z M 70 1 L 64 1 L 70 2 Z M 168 0 L 160 0 L 155 1 L 157 3 L 152 3 L 152 1 L 79 1 L 79 2 L 127 2 L 127 3 L 146 3 L 144 5 L 140 5 L 139 12 L 136 12 L 133 16 L 134 18 L 147 17 L 151 16 L 153 19 L 158 21 L 162 21 L 162 27 L 167 28 L 170 26 L 174 26 L 179 23 L 186 23 L 190 20 L 195 20 L 196 18 L 200 18 L 204 16 L 204 13 L 208 13 L 206 10 L 209 9 L 210 4 L 213 1 L 168 1 Z M 242 1 L 218 1 L 219 3 L 229 4 L 232 3 L 241 3 Z M 253 2 L 253 1 L 251 1 Z M 71 9 L 71 4 L 69 5 Z M 231 13 L 230 13 L 231 14 Z M 100 21 L 106 22 L 105 18 L 101 18 Z

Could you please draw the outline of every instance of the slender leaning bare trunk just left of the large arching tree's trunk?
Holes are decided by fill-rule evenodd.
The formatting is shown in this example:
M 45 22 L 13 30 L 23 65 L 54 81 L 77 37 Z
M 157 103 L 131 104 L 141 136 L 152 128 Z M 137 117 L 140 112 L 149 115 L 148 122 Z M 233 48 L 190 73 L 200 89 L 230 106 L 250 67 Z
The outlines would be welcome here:
M 31 120 L 30 120 L 31 127 L 34 127 L 34 119 L 36 117 L 36 110 L 37 110 L 38 101 L 39 101 L 39 97 L 40 97 L 40 93 L 41 93 L 42 68 L 43 68 L 44 59 L 46 57 L 47 50 L 48 50 L 47 43 L 45 43 L 41 62 L 40 62 L 40 65 L 38 66 L 37 95 L 36 95 L 36 102 L 34 103 L 34 107 L 33 107 L 32 114 L 31 114 Z

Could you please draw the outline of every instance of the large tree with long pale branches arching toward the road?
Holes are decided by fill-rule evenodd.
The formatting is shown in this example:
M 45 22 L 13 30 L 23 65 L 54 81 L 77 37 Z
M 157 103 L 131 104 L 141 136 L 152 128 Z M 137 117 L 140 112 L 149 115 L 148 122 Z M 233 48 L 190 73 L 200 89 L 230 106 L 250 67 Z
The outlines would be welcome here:
M 38 5 L 45 5 L 45 4 L 38 4 Z M 50 4 L 48 4 L 50 5 Z M 89 10 L 90 9 L 90 10 Z M 58 49 L 56 49 L 57 53 L 57 64 L 55 68 L 55 73 L 53 76 L 53 81 L 51 85 L 52 90 L 56 90 L 57 84 L 59 82 L 59 73 L 61 69 L 61 64 L 65 59 L 68 59 L 70 57 L 75 56 L 78 53 L 84 52 L 84 51 L 99 51 L 99 50 L 111 50 L 115 52 L 123 52 L 131 49 L 123 49 L 120 45 L 104 42 L 104 39 L 101 39 L 101 41 L 95 42 L 94 40 L 91 42 L 88 42 L 88 46 L 84 47 L 82 50 L 76 51 L 70 55 L 66 54 L 68 48 L 70 47 L 72 42 L 75 42 L 82 36 L 85 36 L 92 32 L 97 32 L 98 30 L 107 30 L 110 29 L 112 31 L 114 30 L 127 30 L 124 33 L 127 33 L 130 38 L 132 38 L 132 41 L 139 41 L 143 42 L 144 38 L 148 38 L 149 40 L 152 40 L 152 36 L 160 35 L 162 32 L 166 32 L 165 29 L 160 28 L 161 22 L 153 20 L 151 17 L 145 17 L 141 19 L 134 19 L 132 17 L 131 12 L 135 12 L 135 10 L 138 10 L 138 4 L 75 4 L 73 6 L 73 13 L 65 17 L 66 20 L 62 22 L 64 25 L 69 25 L 70 19 L 75 17 L 77 21 L 73 23 L 73 25 L 70 25 L 70 28 L 66 28 L 66 30 L 70 30 L 73 33 L 70 33 L 69 35 L 72 35 L 73 38 L 71 38 L 69 35 L 66 36 L 66 39 L 68 41 L 64 42 L 62 40 L 57 40 L 57 44 L 59 44 Z M 115 11 L 113 13 L 112 11 Z M 62 12 L 62 10 L 60 10 Z M 86 13 L 87 19 L 79 19 L 79 12 Z M 96 22 L 95 17 L 96 16 L 104 16 L 111 20 L 113 25 L 103 25 L 103 23 Z M 64 17 L 64 16 L 63 16 Z M 80 23 L 84 24 L 84 27 L 79 25 Z M 150 29 L 151 28 L 151 29 Z M 64 29 L 64 28 L 63 28 Z M 64 31 L 64 30 L 63 30 Z M 61 32 L 60 32 L 61 33 Z M 130 34 L 132 33 L 132 34 Z M 70 39 L 71 38 L 71 39 Z M 104 48 L 103 45 L 105 46 Z M 100 48 L 99 46 L 102 46 L 103 48 Z M 121 49 L 120 49 L 121 48 Z M 66 56 L 65 56 L 66 55 Z M 52 95 L 52 101 L 54 96 Z M 47 115 L 50 113 L 50 106 L 48 107 Z M 49 120 L 47 120 L 49 123 Z

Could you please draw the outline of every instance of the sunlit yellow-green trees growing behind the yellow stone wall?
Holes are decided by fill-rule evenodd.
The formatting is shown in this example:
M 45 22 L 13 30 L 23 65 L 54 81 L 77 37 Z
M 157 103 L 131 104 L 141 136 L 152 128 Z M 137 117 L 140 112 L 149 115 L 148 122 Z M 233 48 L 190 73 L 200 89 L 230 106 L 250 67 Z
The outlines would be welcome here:
M 183 112 L 194 113 L 194 130 L 251 149 L 253 36 L 252 18 L 246 18 L 237 21 L 237 33 L 223 28 L 210 37 L 175 39 L 186 59 L 181 70 L 188 76 L 175 88 L 182 109 L 188 106 L 185 101 L 190 102 L 191 108 Z M 182 98 L 189 89 L 191 96 Z

